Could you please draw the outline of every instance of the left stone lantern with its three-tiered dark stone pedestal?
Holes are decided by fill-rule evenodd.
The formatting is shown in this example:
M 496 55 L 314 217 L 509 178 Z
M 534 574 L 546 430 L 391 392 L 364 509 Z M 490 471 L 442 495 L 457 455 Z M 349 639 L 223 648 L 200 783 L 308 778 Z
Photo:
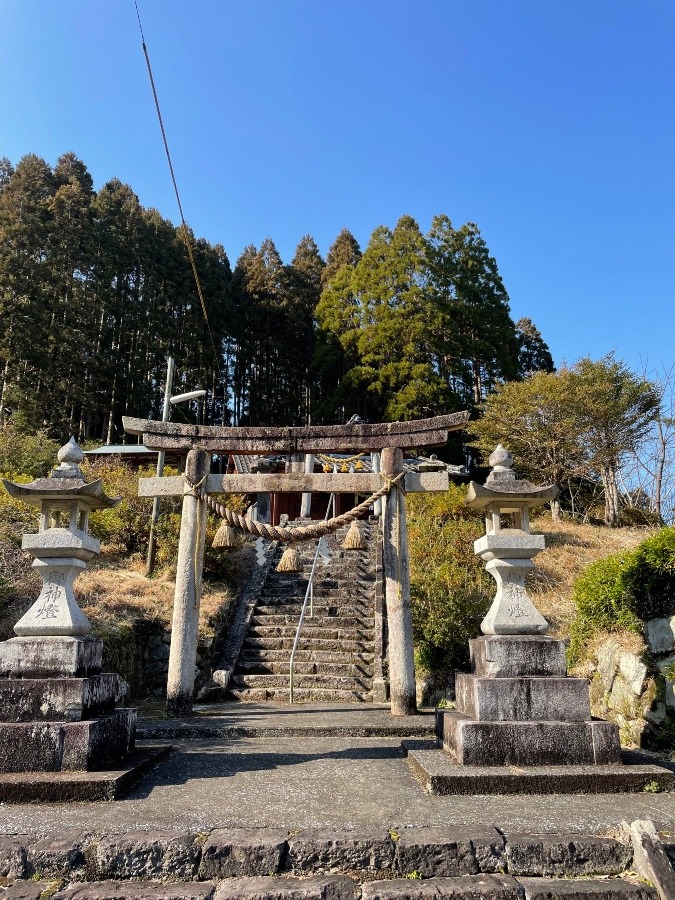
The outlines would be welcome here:
M 103 644 L 90 635 L 73 593 L 100 549 L 88 533 L 89 513 L 119 503 L 100 479 L 85 481 L 82 459 L 71 438 L 49 478 L 3 479 L 12 497 L 40 509 L 39 531 L 24 535 L 22 547 L 43 584 L 14 628 L 18 637 L 0 643 L 0 773 L 105 769 L 134 747 L 136 711 L 116 708 L 124 682 L 101 672 Z

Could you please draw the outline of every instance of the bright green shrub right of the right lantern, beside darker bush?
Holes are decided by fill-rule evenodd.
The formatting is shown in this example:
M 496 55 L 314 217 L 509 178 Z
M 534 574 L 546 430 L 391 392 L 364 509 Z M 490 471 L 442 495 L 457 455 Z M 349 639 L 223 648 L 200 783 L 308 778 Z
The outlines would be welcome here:
M 626 581 L 634 555 L 635 551 L 629 551 L 599 559 L 575 581 L 572 600 L 577 616 L 572 622 L 569 649 L 572 664 L 582 658 L 586 646 L 598 631 L 641 633 L 642 623 L 635 614 Z

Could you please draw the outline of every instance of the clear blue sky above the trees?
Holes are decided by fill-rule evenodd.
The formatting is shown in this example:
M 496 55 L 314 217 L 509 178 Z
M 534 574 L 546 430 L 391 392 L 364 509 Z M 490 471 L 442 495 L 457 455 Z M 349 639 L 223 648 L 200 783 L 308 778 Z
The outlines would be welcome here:
M 673 0 L 138 0 L 186 217 L 234 264 L 478 224 L 556 363 L 675 361 Z M 2 0 L 0 156 L 177 221 L 133 0 Z

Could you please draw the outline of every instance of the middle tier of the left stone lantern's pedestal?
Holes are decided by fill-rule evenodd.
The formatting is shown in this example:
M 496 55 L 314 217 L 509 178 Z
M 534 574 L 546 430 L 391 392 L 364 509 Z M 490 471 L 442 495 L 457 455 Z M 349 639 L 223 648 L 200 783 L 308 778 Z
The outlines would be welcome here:
M 112 712 L 119 675 L 90 678 L 2 678 L 0 714 L 5 722 L 77 722 Z

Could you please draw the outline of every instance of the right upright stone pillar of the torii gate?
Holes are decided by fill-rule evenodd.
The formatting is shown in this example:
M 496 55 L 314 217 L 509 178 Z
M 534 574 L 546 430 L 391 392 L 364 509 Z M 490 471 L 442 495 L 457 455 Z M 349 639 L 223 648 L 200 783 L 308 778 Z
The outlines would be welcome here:
M 395 478 L 403 471 L 403 451 L 382 450 L 382 474 Z M 415 660 L 413 652 L 408 528 L 405 494 L 398 487 L 387 494 L 384 504 L 383 561 L 385 602 L 389 627 L 389 691 L 391 714 L 413 716 L 417 712 Z

